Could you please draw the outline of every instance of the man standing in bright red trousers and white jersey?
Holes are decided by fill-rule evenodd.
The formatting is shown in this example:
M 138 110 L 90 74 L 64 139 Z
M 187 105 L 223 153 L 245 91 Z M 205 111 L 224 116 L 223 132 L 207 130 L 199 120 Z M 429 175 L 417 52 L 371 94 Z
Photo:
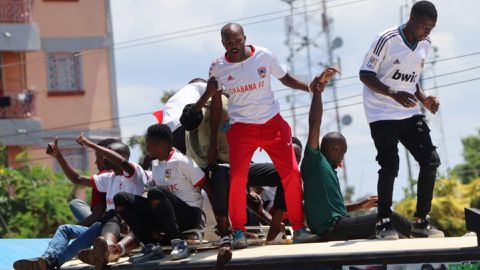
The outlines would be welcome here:
M 209 162 L 217 152 L 217 131 L 221 114 L 221 91 L 229 95 L 228 112 L 231 127 L 227 132 L 230 157 L 229 213 L 233 228 L 234 248 L 247 247 L 245 237 L 248 168 L 257 148 L 272 159 L 285 190 L 288 219 L 294 229 L 294 242 L 312 242 L 318 238 L 305 230 L 302 209 L 300 172 L 292 147 L 290 126 L 280 115 L 280 106 L 273 95 L 270 76 L 285 86 L 308 92 L 317 80 L 307 85 L 287 73 L 277 58 L 266 48 L 245 45 L 241 25 L 228 23 L 221 30 L 225 54 L 210 67 L 207 91 L 212 98 L 211 143 Z M 215 86 L 215 87 L 211 87 Z M 217 91 L 218 89 L 218 91 Z

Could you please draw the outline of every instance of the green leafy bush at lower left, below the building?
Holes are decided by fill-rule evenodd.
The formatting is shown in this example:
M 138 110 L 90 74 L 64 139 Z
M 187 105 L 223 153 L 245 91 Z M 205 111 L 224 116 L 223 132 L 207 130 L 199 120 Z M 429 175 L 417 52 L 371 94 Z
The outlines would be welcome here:
M 68 208 L 72 189 L 49 168 L 0 166 L 0 216 L 6 223 L 0 238 L 50 237 L 59 225 L 73 223 Z

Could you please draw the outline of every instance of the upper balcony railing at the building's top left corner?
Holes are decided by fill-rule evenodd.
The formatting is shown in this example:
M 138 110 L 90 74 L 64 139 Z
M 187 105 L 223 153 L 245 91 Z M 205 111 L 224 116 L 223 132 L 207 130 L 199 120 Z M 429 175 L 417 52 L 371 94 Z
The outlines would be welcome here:
M 0 23 L 29 23 L 32 0 L 0 0 Z

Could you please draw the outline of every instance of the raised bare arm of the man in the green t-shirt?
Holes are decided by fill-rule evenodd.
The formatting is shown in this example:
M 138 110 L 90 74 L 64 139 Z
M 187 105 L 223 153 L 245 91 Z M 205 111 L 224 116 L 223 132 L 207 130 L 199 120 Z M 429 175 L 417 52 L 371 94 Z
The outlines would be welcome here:
M 335 68 L 327 68 L 310 83 L 310 89 L 313 90 L 313 98 L 310 105 L 310 113 L 308 115 L 307 144 L 313 149 L 318 149 L 319 146 L 320 126 L 323 117 L 322 92 L 325 88 L 325 84 L 337 72 L 339 71 Z

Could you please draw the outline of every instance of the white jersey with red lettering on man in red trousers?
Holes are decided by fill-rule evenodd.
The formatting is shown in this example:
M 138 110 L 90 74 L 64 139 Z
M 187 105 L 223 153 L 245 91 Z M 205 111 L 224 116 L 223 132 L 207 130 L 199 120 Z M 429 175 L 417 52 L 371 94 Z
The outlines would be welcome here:
M 270 50 L 249 46 L 252 53 L 244 61 L 231 63 L 222 55 L 210 66 L 209 77 L 215 77 L 219 90 L 230 96 L 228 114 L 232 124 L 263 124 L 280 112 L 270 75 L 282 78 L 287 70 Z

